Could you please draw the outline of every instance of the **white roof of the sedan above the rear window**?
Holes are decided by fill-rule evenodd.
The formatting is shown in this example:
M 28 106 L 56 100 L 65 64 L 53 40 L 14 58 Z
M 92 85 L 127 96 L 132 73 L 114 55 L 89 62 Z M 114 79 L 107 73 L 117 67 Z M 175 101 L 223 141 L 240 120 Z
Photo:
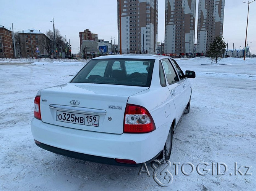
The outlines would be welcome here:
M 115 54 L 115 55 L 108 55 L 108 56 L 99 56 L 93 58 L 92 60 L 96 59 L 152 59 L 155 60 L 156 58 L 170 58 L 168 56 L 162 56 L 157 54 Z

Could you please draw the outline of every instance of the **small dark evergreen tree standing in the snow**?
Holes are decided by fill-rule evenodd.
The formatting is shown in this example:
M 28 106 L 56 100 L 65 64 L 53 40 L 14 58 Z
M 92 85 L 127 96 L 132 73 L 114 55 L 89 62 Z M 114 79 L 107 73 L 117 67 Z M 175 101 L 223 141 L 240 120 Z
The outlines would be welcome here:
M 225 53 L 225 48 L 227 47 L 222 36 L 217 36 L 214 38 L 213 42 L 209 45 L 207 50 L 207 55 L 212 61 L 215 61 L 215 64 L 223 58 Z

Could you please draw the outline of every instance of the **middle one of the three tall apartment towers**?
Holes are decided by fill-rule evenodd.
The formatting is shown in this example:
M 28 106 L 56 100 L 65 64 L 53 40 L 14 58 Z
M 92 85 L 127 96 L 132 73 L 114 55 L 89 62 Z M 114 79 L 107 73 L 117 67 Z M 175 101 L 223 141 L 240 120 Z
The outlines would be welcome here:
M 196 0 L 165 0 L 165 53 L 193 53 Z

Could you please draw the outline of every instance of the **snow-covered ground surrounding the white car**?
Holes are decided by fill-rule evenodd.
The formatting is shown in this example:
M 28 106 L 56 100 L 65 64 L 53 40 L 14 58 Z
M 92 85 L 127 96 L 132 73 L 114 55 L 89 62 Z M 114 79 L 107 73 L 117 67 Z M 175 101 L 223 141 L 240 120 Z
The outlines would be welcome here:
M 183 71 L 194 70 L 190 113 L 173 135 L 170 186 L 160 187 L 140 167 L 117 167 L 60 156 L 34 143 L 30 122 L 39 89 L 71 80 L 84 62 L 0 62 L 0 190 L 256 190 L 256 59 L 177 59 Z M 13 63 L 13 64 L 11 64 Z M 177 165 L 175 175 L 173 162 Z M 191 162 L 186 176 L 181 165 Z M 205 176 L 199 170 L 209 169 Z M 214 165 L 212 165 L 214 162 Z M 217 163 L 225 175 L 217 175 Z M 240 167 L 242 174 L 235 172 Z M 157 169 L 157 178 L 167 165 Z M 212 175 L 214 166 L 214 175 Z M 245 167 L 246 166 L 246 167 Z M 191 172 L 185 165 L 184 171 Z M 224 166 L 220 165 L 220 172 Z M 235 175 L 235 173 L 237 175 Z M 165 182 L 164 182 L 165 181 Z

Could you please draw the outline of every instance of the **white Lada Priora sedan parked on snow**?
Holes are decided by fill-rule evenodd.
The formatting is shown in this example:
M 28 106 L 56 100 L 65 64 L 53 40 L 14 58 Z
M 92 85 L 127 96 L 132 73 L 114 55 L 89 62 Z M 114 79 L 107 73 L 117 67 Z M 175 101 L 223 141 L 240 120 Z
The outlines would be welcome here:
M 37 146 L 86 161 L 139 166 L 164 156 L 190 110 L 192 86 L 160 55 L 91 59 L 69 83 L 40 90 L 31 131 Z M 163 155 L 164 153 L 164 155 Z

